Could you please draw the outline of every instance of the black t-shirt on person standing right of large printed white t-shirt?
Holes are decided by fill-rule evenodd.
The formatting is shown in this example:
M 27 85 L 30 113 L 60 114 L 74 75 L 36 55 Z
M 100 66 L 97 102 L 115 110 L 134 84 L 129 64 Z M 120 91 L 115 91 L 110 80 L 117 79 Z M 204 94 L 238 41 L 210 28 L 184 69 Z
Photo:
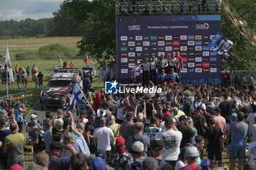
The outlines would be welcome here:
M 208 149 L 219 150 L 219 137 L 221 137 L 222 135 L 222 129 L 217 126 L 210 126 L 206 128 L 206 139 L 208 139 Z

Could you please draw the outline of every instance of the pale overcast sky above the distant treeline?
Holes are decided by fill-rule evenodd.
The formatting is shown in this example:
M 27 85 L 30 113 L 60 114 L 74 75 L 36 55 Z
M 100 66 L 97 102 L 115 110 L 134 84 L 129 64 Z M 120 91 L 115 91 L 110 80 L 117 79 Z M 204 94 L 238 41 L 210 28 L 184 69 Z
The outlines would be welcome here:
M 64 0 L 0 0 L 0 20 L 52 18 Z

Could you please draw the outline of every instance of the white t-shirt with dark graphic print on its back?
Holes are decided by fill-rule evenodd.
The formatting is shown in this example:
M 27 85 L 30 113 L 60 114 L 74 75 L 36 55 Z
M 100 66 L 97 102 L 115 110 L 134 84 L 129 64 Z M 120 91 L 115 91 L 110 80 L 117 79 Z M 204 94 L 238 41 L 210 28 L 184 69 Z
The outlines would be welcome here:
M 181 132 L 173 130 L 160 131 L 156 138 L 162 139 L 165 143 L 165 152 L 162 155 L 162 160 L 177 161 L 182 139 Z

